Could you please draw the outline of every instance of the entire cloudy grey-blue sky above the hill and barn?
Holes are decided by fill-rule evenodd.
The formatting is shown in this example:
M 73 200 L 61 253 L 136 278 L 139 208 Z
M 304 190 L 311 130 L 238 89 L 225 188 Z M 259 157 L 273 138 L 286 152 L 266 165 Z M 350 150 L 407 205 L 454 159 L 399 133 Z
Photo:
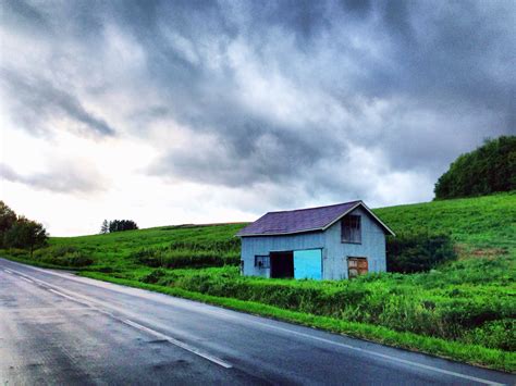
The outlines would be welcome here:
M 0 3 L 0 199 L 54 236 L 428 201 L 515 133 L 513 0 Z

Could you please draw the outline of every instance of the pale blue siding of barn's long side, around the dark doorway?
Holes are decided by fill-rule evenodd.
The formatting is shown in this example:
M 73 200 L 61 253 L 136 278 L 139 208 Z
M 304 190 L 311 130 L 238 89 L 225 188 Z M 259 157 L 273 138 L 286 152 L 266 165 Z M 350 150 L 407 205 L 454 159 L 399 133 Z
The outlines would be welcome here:
M 255 256 L 267 256 L 269 252 L 293 251 L 323 248 L 322 232 L 288 236 L 242 237 L 242 260 L 244 275 L 269 277 L 268 269 L 255 267 Z M 324 257 L 324 251 L 323 251 Z

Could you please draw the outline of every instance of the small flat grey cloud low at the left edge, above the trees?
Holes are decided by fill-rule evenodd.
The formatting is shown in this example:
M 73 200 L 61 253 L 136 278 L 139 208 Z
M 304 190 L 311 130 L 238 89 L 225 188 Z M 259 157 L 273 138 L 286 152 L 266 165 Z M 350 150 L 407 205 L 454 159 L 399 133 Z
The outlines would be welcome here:
M 70 164 L 50 173 L 29 175 L 22 175 L 12 167 L 0 164 L 0 178 L 53 192 L 90 194 L 105 189 L 103 183 L 97 174 Z

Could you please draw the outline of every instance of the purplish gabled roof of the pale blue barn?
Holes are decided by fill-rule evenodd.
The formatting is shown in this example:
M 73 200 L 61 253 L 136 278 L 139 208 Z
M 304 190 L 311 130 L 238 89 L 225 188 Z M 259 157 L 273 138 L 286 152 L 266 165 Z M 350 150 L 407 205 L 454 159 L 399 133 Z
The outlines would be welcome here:
M 239 231 L 236 236 L 272 236 L 324 231 L 358 206 L 364 207 L 386 233 L 394 235 L 363 201 L 351 201 L 328 207 L 269 212 Z

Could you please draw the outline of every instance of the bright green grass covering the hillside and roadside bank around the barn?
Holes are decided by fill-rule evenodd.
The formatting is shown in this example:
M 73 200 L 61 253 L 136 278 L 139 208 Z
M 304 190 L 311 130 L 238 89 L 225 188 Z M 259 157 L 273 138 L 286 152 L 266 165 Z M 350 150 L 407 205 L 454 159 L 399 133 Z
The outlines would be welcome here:
M 90 259 L 85 276 L 515 372 L 516 195 L 376 212 L 396 233 L 450 233 L 459 260 L 429 273 L 355 281 L 241 277 L 231 264 L 243 224 L 226 224 L 52 238 L 35 261 Z

